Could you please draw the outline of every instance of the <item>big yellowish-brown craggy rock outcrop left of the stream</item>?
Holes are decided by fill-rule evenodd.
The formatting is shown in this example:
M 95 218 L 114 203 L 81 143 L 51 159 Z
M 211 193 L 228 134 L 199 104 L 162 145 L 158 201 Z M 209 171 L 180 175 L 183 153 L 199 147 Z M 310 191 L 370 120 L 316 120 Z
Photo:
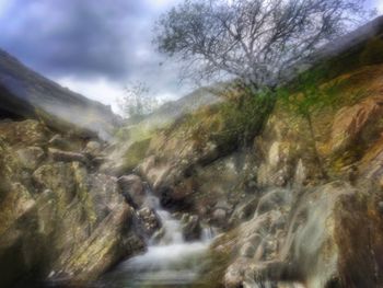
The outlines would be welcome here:
M 1 287 L 89 283 L 144 247 L 117 178 L 81 153 L 89 143 L 51 148 L 54 133 L 36 120 L 0 123 L 0 131 Z

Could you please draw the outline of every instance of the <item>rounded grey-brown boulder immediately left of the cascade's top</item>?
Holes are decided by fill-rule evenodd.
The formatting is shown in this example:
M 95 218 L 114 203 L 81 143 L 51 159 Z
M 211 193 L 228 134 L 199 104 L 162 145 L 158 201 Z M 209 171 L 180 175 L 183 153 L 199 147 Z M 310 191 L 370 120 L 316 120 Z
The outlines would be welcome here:
M 141 178 L 137 175 L 126 175 L 118 178 L 118 185 L 125 199 L 135 208 L 143 205 L 147 193 Z

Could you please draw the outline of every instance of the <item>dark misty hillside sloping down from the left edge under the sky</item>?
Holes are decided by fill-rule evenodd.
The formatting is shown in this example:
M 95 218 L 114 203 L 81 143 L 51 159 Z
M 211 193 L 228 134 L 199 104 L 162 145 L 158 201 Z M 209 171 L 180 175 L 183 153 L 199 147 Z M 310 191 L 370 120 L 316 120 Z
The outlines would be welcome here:
M 90 129 L 104 139 L 120 122 L 111 107 L 62 88 L 0 49 L 0 118 L 42 115 Z

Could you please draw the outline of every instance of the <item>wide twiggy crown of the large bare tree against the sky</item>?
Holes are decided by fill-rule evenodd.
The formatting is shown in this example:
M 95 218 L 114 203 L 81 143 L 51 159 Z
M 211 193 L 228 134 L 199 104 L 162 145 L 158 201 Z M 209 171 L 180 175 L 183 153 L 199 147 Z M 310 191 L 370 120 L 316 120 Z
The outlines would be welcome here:
M 154 43 L 183 76 L 234 76 L 258 90 L 365 19 L 364 0 L 185 0 L 163 14 Z

